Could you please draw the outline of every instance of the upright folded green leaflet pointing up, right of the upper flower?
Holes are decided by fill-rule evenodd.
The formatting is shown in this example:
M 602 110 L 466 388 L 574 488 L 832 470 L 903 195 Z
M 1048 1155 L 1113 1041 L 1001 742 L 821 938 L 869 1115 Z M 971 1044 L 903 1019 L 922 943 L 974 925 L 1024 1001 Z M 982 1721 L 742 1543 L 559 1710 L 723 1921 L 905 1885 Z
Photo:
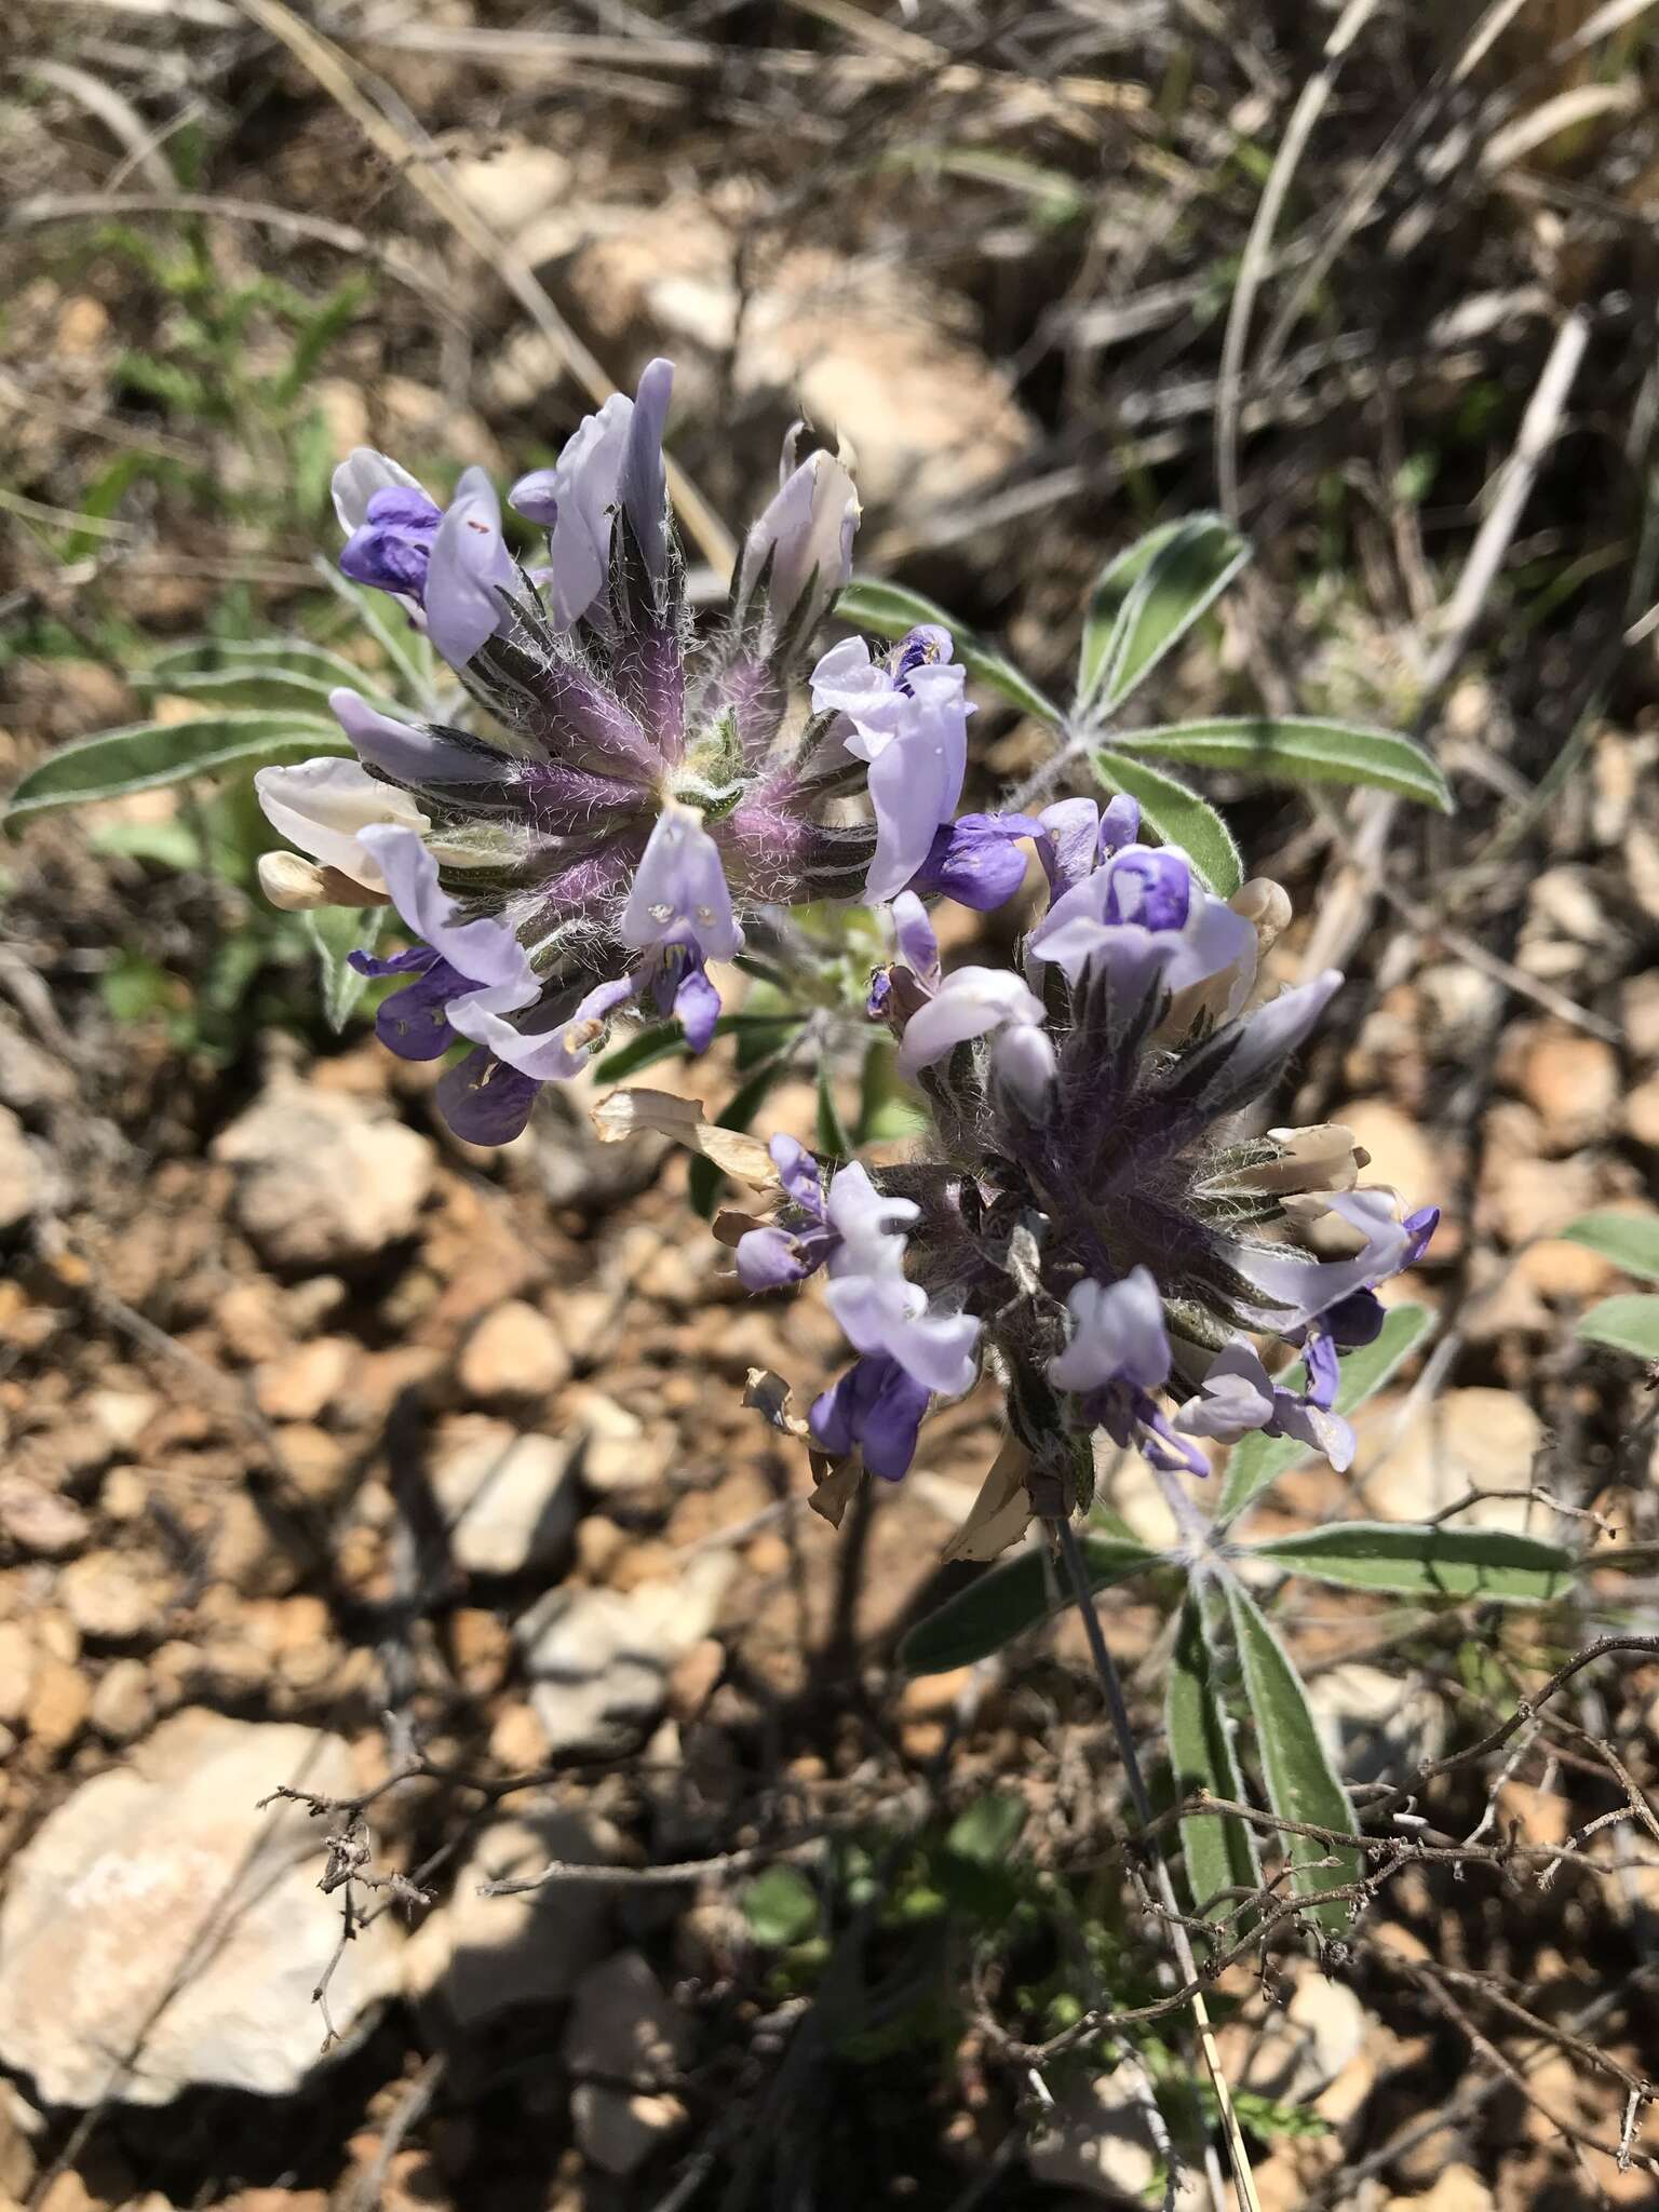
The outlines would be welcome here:
M 1148 531 L 1099 573 L 1077 661 L 1077 712 L 1106 717 L 1128 699 L 1250 560 L 1223 515 Z

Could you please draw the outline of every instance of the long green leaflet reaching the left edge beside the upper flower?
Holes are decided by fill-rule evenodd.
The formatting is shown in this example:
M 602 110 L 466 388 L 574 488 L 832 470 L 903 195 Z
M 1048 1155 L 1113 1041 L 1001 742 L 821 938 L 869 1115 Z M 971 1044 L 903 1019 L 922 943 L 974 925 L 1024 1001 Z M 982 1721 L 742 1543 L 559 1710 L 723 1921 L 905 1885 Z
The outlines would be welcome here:
M 13 787 L 4 823 L 95 799 L 124 799 L 164 783 L 186 783 L 228 768 L 303 761 L 316 752 L 349 752 L 334 717 L 197 714 L 192 721 L 139 721 L 60 745 Z

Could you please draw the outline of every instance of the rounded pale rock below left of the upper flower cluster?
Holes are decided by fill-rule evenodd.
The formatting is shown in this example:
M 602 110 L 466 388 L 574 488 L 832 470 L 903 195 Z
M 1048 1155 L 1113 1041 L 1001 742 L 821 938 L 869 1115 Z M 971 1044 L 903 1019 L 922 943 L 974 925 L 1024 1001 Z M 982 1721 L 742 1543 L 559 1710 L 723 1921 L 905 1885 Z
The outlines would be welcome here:
M 374 1259 L 416 1228 L 434 1148 L 361 1099 L 292 1077 L 272 1082 L 212 1141 L 239 1170 L 237 1221 L 279 1267 Z

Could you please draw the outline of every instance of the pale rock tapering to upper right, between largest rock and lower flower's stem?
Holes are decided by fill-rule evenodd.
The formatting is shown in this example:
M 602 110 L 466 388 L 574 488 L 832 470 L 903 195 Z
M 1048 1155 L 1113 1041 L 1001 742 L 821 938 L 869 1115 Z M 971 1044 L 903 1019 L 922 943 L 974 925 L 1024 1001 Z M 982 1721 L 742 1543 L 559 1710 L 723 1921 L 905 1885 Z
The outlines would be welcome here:
M 650 1723 L 668 1674 L 714 1626 L 732 1557 L 617 1590 L 549 1590 L 518 1624 L 531 1701 L 553 1752 L 613 1750 Z

